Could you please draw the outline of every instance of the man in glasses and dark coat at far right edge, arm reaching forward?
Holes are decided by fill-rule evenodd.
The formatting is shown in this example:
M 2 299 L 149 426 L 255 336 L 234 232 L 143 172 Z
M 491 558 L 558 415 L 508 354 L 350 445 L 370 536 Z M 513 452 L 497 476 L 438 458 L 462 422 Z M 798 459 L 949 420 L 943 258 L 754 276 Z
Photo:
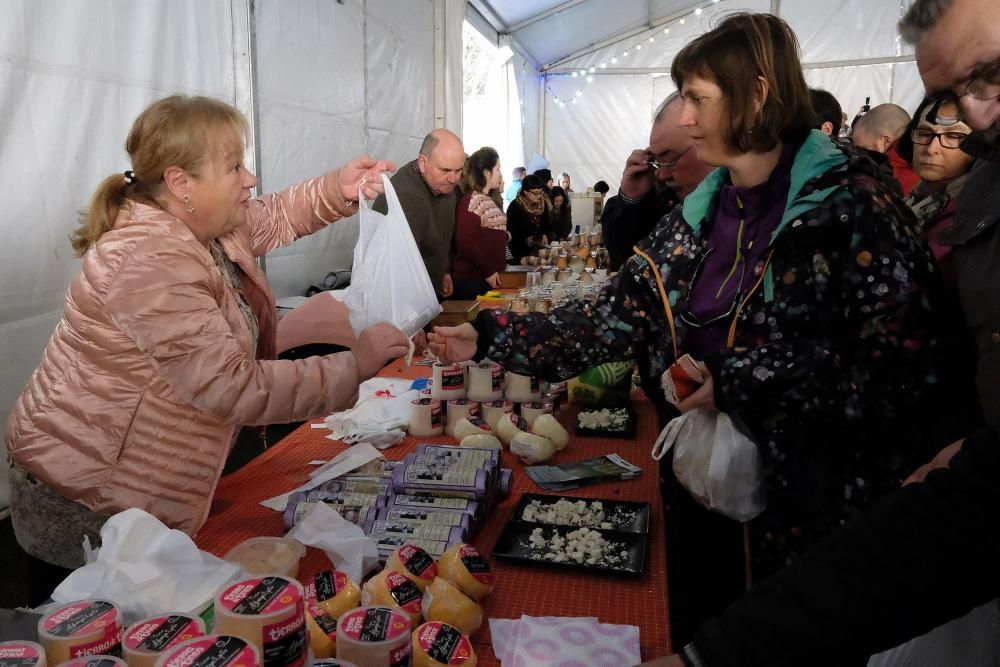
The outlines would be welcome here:
M 754 586 L 694 641 L 650 666 L 863 664 L 1000 594 L 1000 21 L 995 0 L 914 0 L 900 23 L 928 91 L 958 105 L 936 125 L 965 122 L 962 149 L 980 160 L 947 231 L 977 385 L 990 428 L 946 448 L 886 497 L 774 577 Z M 951 115 L 948 115 L 948 112 Z M 925 137 L 926 138 L 926 137 Z M 940 137 L 948 143 L 954 137 Z M 945 235 L 942 234 L 942 239 Z M 982 608 L 996 621 L 995 601 Z M 959 653 L 893 664 L 996 664 L 972 652 L 996 630 L 953 635 Z M 926 647 L 924 649 L 926 651 Z M 859 663 L 860 661 L 860 663 Z

